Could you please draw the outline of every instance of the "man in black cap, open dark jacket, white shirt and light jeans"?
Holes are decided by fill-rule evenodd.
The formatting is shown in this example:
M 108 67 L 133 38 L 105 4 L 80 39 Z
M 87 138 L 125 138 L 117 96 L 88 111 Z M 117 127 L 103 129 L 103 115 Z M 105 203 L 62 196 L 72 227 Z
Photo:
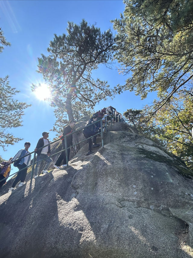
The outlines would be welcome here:
M 34 178 L 38 177 L 38 172 L 39 172 L 39 169 L 40 169 L 40 165 L 43 162 L 43 160 L 40 161 L 40 162 L 39 162 L 39 160 L 46 158 L 45 161 L 47 162 L 46 165 L 45 165 L 45 168 L 42 171 L 42 174 L 47 174 L 48 173 L 47 169 L 50 168 L 51 164 L 53 163 L 52 158 L 49 158 L 49 156 L 51 154 L 50 145 L 48 145 L 49 144 L 49 140 L 48 140 L 49 132 L 43 132 L 42 136 L 43 137 L 41 137 L 38 140 L 36 148 L 34 149 L 34 151 L 37 153 L 37 162 L 38 162 L 36 164 Z M 48 146 L 40 149 L 41 147 L 43 147 L 45 145 L 48 145 Z M 40 150 L 38 150 L 38 149 L 40 149 Z

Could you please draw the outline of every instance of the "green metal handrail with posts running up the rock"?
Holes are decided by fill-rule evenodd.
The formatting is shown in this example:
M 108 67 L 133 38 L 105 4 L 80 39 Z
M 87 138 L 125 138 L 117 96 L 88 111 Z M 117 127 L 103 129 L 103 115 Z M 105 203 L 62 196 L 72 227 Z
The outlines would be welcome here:
M 110 119 L 109 121 L 106 120 L 106 118 L 107 118 L 108 116 L 111 116 L 111 119 Z M 104 125 L 104 128 L 103 128 L 103 120 L 104 120 L 104 119 L 105 119 L 105 125 Z M 113 121 L 114 119 L 115 119 L 115 121 Z M 49 157 L 52 157 L 52 156 L 54 156 L 54 155 L 56 155 L 56 154 L 58 154 L 58 153 L 61 153 L 61 152 L 64 152 L 64 151 L 65 151 L 65 153 L 66 153 L 66 165 L 68 166 L 68 152 L 67 152 L 67 150 L 70 149 L 71 147 L 76 146 L 76 145 L 78 145 L 79 143 L 82 143 L 82 142 L 84 142 L 84 141 L 87 141 L 88 139 L 91 139 L 91 138 L 93 138 L 94 136 L 97 136 L 97 135 L 99 135 L 99 134 L 101 134 L 102 148 L 104 148 L 104 138 L 103 138 L 104 129 L 106 129 L 106 132 L 108 132 L 108 129 L 106 128 L 106 126 L 108 126 L 108 123 L 109 123 L 109 122 L 111 122 L 111 126 L 112 126 L 112 122 L 116 122 L 116 120 L 118 120 L 117 122 L 125 122 L 124 119 L 122 118 L 122 114 L 119 113 L 119 112 L 117 112 L 116 110 L 114 110 L 112 114 L 106 115 L 106 116 L 104 116 L 103 118 L 101 118 L 101 119 L 99 119 L 99 120 L 93 122 L 93 123 L 90 124 L 90 125 L 84 126 L 84 127 L 80 128 L 80 129 L 78 129 L 78 130 L 75 130 L 74 132 L 69 133 L 68 135 L 65 135 L 65 136 L 64 136 L 65 149 L 62 150 L 62 151 L 56 152 L 56 153 L 50 155 Z M 81 130 L 83 130 L 83 129 L 89 127 L 89 126 L 92 126 L 93 124 L 98 123 L 99 121 L 100 121 L 101 132 L 98 132 L 97 134 L 95 134 L 95 135 L 93 135 L 93 136 L 90 136 L 89 138 L 87 138 L 87 139 L 85 139 L 85 140 L 82 140 L 82 141 L 80 141 L 80 142 L 78 142 L 78 143 L 76 143 L 76 144 L 74 144 L 74 145 L 72 145 L 72 146 L 70 146 L 70 147 L 67 148 L 67 139 L 66 139 L 66 138 L 67 138 L 68 136 L 70 136 L 70 135 L 72 135 L 72 134 L 74 134 L 74 133 L 76 133 L 76 132 L 78 132 L 78 131 L 81 131 Z M 39 151 L 39 150 L 45 148 L 45 147 L 48 146 L 48 145 L 51 145 L 51 144 L 57 142 L 57 141 L 59 141 L 59 140 L 61 140 L 61 138 L 56 139 L 55 141 L 50 142 L 49 144 L 44 145 L 43 147 L 40 147 L 39 149 L 37 149 L 37 151 Z M 37 152 L 37 151 L 36 151 L 36 152 Z M 14 160 L 14 162 L 17 161 L 17 160 L 21 160 L 22 158 L 27 157 L 28 155 L 31 155 L 31 154 L 34 153 L 34 156 L 33 156 L 33 163 L 30 164 L 30 165 L 28 165 L 28 166 L 26 166 L 25 168 L 22 168 L 21 170 L 19 170 L 19 171 L 22 171 L 22 170 L 24 170 L 24 169 L 29 168 L 30 166 L 32 166 L 31 180 L 32 180 L 32 178 L 33 178 L 33 170 L 34 170 L 35 164 L 37 164 L 38 162 L 41 162 L 41 161 L 47 159 L 47 157 L 46 157 L 46 158 L 43 158 L 43 159 L 39 160 L 38 162 L 37 162 L 37 161 L 35 162 L 35 159 L 36 159 L 36 152 L 35 152 L 35 151 L 30 152 L 30 153 L 28 153 L 27 155 L 25 155 L 25 156 L 23 156 L 23 157 L 19 157 L 19 158 L 17 158 L 16 160 Z M 12 174 L 12 175 L 9 175 L 8 177 L 17 174 L 19 171 L 15 172 L 15 173 Z M 6 178 L 0 180 L 0 182 L 3 181 L 3 180 L 5 180 L 5 179 L 7 179 L 8 177 L 6 177 Z

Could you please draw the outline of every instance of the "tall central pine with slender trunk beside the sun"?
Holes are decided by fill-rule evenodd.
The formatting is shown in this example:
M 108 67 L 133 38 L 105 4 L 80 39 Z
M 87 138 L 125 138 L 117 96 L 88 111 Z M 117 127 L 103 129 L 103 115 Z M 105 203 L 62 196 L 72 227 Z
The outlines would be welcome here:
M 49 55 L 38 58 L 38 72 L 52 91 L 55 113 L 74 119 L 86 108 L 93 108 L 107 96 L 114 96 L 107 81 L 93 79 L 98 65 L 111 64 L 115 40 L 110 30 L 101 32 L 83 19 L 79 25 L 68 22 L 67 35 L 54 35 Z M 33 90 L 36 89 L 33 85 Z

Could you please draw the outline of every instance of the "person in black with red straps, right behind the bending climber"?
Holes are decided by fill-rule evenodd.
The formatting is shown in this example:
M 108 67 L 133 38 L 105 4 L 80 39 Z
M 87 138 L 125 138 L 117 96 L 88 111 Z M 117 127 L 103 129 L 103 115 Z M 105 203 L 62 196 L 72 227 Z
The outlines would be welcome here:
M 74 127 L 75 127 L 75 123 L 76 123 L 75 121 L 71 120 L 71 121 L 69 122 L 69 125 L 68 125 L 68 126 L 65 126 L 65 128 L 64 128 L 64 132 L 63 132 L 62 135 L 61 135 L 61 139 L 62 139 L 62 150 L 65 150 L 65 141 L 64 141 L 64 138 L 63 138 L 63 137 L 64 137 L 65 135 L 68 135 L 68 134 L 70 134 L 70 133 L 72 132 L 72 129 L 74 129 Z M 72 144 L 72 134 L 66 137 L 66 141 L 67 141 L 67 148 L 73 145 L 73 144 Z M 68 161 L 69 161 L 70 149 L 68 149 L 67 152 L 68 152 Z M 60 164 L 61 164 L 62 160 L 63 160 L 63 165 L 60 167 Z M 67 162 L 66 162 L 66 152 L 64 151 L 64 152 L 62 152 L 62 153 L 59 155 L 58 159 L 57 159 L 56 162 L 55 162 L 54 167 L 55 167 L 55 168 L 62 168 L 62 167 L 65 167 L 65 166 L 67 166 Z

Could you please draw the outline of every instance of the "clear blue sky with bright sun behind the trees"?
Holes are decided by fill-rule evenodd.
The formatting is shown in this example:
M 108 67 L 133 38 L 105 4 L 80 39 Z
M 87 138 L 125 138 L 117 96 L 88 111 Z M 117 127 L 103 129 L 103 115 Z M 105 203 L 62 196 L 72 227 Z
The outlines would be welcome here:
M 0 1 L 0 27 L 11 42 L 11 47 L 5 47 L 0 54 L 0 77 L 9 75 L 10 86 L 21 91 L 16 98 L 32 104 L 25 110 L 23 126 L 11 129 L 14 136 L 24 140 L 8 146 L 6 152 L 0 149 L 4 159 L 14 156 L 26 141 L 31 142 L 29 150 L 33 151 L 42 132 L 48 132 L 53 127 L 53 108 L 48 102 L 38 100 L 30 87 L 32 83 L 44 83 L 41 74 L 36 72 L 37 57 L 41 53 L 47 54 L 47 47 L 54 34 L 66 33 L 68 21 L 79 24 L 83 18 L 90 24 L 96 23 L 101 31 L 106 31 L 113 26 L 110 20 L 119 18 L 124 8 L 121 0 Z M 118 83 L 124 84 L 126 77 L 119 75 L 116 66 L 111 70 L 100 66 L 95 76 L 107 80 L 111 87 Z M 112 105 L 123 113 L 129 108 L 140 109 L 155 97 L 156 94 L 151 93 L 142 101 L 139 96 L 127 91 L 117 95 L 114 100 L 109 98 L 101 101 L 95 110 Z M 49 136 L 52 140 L 55 133 L 50 132 Z

